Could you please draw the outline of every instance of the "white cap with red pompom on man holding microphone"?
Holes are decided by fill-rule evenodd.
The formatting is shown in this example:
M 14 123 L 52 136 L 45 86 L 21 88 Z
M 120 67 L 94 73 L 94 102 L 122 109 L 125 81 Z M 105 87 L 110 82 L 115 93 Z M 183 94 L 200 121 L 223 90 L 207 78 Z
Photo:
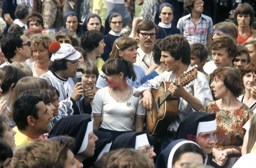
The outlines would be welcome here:
M 81 54 L 70 44 L 60 44 L 60 49 L 52 54 L 51 61 L 59 61 L 63 59 L 74 61 L 80 56 Z

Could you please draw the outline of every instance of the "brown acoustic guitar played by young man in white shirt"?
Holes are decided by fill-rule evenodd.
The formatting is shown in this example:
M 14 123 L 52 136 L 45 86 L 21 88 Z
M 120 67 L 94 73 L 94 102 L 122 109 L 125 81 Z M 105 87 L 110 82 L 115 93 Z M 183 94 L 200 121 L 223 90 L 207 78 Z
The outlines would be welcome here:
M 197 69 L 194 67 L 175 81 L 175 86 L 185 86 L 197 77 Z M 162 137 L 172 120 L 176 120 L 179 114 L 178 97 L 170 95 L 168 88 L 171 82 L 163 81 L 158 88 L 152 88 L 153 110 L 147 111 L 147 130 L 149 136 Z

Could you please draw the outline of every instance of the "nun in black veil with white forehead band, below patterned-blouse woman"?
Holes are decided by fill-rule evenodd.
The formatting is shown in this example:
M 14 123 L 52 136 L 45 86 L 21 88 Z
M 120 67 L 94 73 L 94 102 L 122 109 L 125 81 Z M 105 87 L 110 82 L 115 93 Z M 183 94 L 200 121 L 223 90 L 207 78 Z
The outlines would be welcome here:
M 180 123 L 176 139 L 187 139 L 196 142 L 205 153 L 206 165 L 219 167 L 217 163 L 212 161 L 212 149 L 217 142 L 216 132 L 215 114 L 193 112 L 189 113 Z

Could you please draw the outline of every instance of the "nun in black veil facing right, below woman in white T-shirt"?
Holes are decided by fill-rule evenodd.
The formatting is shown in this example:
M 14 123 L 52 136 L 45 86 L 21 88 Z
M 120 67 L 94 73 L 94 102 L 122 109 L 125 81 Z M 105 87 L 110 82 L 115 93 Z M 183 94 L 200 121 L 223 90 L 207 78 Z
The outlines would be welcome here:
M 75 138 L 70 150 L 79 162 L 94 155 L 95 141 L 98 137 L 93 133 L 93 120 L 89 114 L 70 115 L 62 118 L 49 133 L 50 137 L 69 136 Z

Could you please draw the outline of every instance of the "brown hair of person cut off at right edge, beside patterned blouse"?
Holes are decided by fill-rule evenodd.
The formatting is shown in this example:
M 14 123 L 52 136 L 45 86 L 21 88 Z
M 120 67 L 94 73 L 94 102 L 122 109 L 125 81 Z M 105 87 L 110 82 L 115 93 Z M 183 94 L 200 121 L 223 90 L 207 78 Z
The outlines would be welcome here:
M 249 138 L 248 144 L 246 147 L 246 154 L 251 153 L 252 147 L 256 141 L 256 114 L 253 114 L 250 119 L 250 130 L 249 130 Z

